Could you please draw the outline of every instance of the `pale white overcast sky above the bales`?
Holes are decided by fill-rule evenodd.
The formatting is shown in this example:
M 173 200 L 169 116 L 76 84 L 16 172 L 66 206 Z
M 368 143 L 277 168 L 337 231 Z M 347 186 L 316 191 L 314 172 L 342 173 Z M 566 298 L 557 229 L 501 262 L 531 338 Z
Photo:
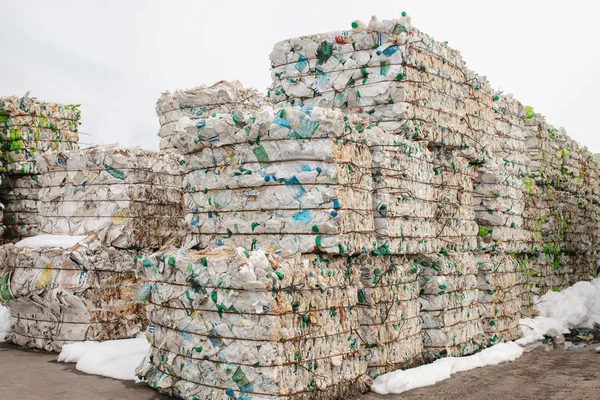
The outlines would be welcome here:
M 600 152 L 599 2 L 0 0 L 0 96 L 82 104 L 82 141 L 158 149 L 163 90 L 239 79 L 266 91 L 279 40 L 406 11 L 514 93 Z

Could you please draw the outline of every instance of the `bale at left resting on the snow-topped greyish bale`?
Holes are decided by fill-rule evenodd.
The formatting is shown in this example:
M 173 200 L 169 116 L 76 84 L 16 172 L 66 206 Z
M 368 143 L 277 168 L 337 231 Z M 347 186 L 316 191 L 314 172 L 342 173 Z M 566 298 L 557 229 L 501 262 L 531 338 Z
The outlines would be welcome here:
M 94 233 L 119 248 L 181 243 L 183 162 L 115 145 L 46 152 L 38 157 L 40 231 Z

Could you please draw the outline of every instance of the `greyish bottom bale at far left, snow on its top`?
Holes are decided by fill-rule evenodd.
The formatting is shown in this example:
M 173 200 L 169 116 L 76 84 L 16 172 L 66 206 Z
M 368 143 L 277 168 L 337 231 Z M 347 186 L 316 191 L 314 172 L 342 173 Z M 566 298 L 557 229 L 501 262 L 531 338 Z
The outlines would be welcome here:
M 60 351 L 67 343 L 134 337 L 146 324 L 135 257 L 94 236 L 69 249 L 0 246 L 0 302 L 12 316 L 7 340 Z

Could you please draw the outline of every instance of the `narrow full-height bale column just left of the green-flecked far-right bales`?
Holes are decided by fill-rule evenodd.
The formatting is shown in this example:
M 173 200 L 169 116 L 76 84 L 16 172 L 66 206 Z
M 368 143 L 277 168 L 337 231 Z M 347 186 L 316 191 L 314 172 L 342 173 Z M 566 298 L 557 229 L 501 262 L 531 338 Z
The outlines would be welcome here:
M 473 206 L 478 230 L 476 255 L 478 303 L 485 344 L 517 339 L 526 274 L 515 253 L 536 248 L 535 224 L 526 215 L 524 119 L 522 106 L 485 87 L 482 122 L 490 125 L 482 137 L 485 155 L 474 166 Z M 478 117 L 478 116 L 475 116 Z M 474 117 L 474 118 L 475 118 Z

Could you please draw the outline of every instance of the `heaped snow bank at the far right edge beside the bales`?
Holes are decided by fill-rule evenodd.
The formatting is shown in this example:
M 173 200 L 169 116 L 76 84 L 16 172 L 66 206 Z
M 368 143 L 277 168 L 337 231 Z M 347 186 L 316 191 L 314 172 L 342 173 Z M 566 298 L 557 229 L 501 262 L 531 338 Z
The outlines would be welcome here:
M 526 345 L 543 339 L 549 329 L 568 333 L 573 328 L 591 328 L 600 323 L 600 278 L 577 282 L 562 292 L 548 292 L 535 306 L 540 314 L 520 321 L 523 337 L 516 342 Z

